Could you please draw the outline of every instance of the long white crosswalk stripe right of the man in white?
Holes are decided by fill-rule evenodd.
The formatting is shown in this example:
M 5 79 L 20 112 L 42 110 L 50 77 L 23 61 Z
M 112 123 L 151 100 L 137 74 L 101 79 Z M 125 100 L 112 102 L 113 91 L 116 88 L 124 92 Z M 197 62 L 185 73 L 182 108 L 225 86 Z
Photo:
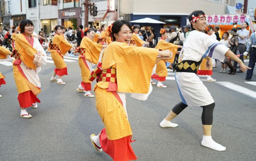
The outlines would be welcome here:
M 219 84 L 219 85 L 222 85 L 224 87 L 227 87 L 231 90 L 234 90 L 236 92 L 240 92 L 244 95 L 250 96 L 252 98 L 256 98 L 256 92 L 252 91 L 252 90 L 249 90 L 248 88 L 236 85 L 236 84 L 231 83 L 231 82 L 216 82 L 216 83 Z

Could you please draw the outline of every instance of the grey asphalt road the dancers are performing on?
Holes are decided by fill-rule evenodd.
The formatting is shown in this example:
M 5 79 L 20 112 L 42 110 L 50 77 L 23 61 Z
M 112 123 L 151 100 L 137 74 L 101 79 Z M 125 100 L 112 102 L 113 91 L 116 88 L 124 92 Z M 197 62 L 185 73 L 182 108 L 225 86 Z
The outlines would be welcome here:
M 74 60 L 74 59 L 72 59 Z M 6 60 L 0 60 L 6 61 Z M 7 60 L 10 61 L 10 60 Z M 23 119 L 17 101 L 17 88 L 12 66 L 0 64 L 6 85 L 0 87 L 0 160 L 1 161 L 110 161 L 104 152 L 95 151 L 90 142 L 103 123 L 95 108 L 95 98 L 76 91 L 81 82 L 78 62 L 66 62 L 66 85 L 50 82 L 53 63 L 42 67 L 39 77 L 42 92 L 37 109 L 29 108 L 31 119 Z M 246 95 L 214 82 L 204 82 L 216 106 L 213 139 L 226 147 L 215 151 L 201 146 L 201 107 L 187 107 L 172 122 L 176 128 L 161 128 L 159 123 L 172 107 L 181 101 L 174 80 L 166 80 L 167 88 L 153 86 L 146 101 L 131 98 L 127 93 L 127 111 L 133 129 L 132 143 L 138 161 L 249 161 L 256 159 L 256 86 L 245 83 L 245 73 L 228 75 L 214 68 L 214 79 L 227 81 L 251 90 Z M 255 70 L 256 72 L 256 70 Z M 170 75 L 173 77 L 173 75 Z M 202 77 L 202 79 L 206 79 Z M 256 75 L 251 81 L 256 81 Z M 94 86 L 95 82 L 93 83 Z M 94 92 L 92 92 L 94 93 Z

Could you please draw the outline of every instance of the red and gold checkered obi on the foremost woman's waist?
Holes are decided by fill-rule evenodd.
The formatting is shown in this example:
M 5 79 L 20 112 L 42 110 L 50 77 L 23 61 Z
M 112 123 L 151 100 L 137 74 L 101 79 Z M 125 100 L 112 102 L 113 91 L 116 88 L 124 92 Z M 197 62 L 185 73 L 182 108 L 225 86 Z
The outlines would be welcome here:
M 100 69 L 98 66 L 92 71 L 90 81 L 117 83 L 116 69 Z

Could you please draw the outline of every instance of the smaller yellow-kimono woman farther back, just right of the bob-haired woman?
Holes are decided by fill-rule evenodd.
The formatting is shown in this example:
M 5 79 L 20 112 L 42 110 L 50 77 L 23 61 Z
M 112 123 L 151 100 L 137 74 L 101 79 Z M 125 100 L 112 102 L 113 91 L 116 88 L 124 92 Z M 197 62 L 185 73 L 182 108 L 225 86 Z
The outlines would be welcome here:
M 56 68 L 53 71 L 50 81 L 57 81 L 57 84 L 65 85 L 66 83 L 62 81 L 62 76 L 68 75 L 68 69 L 63 60 L 63 56 L 72 48 L 72 45 L 68 43 L 66 39 L 64 39 L 62 26 L 57 25 L 55 26 L 54 30 L 56 34 L 53 37 L 52 43 L 49 44 L 49 47 Z M 59 76 L 58 79 L 55 78 L 56 75 Z

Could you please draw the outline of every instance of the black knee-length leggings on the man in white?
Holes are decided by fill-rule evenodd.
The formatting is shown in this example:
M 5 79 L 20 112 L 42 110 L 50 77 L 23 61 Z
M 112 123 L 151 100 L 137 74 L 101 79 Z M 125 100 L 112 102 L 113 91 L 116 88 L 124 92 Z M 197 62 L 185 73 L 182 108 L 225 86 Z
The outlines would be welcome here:
M 187 107 L 187 104 L 184 104 L 182 102 L 176 104 L 174 106 L 174 108 L 172 108 L 172 112 L 174 112 L 175 114 L 179 114 L 181 113 L 181 111 L 183 111 L 183 109 L 185 109 Z M 208 104 L 206 106 L 201 106 L 203 108 L 203 112 L 202 112 L 202 124 L 203 125 L 212 125 L 212 121 L 213 121 L 213 109 L 215 107 L 215 102 L 213 102 L 212 104 Z

